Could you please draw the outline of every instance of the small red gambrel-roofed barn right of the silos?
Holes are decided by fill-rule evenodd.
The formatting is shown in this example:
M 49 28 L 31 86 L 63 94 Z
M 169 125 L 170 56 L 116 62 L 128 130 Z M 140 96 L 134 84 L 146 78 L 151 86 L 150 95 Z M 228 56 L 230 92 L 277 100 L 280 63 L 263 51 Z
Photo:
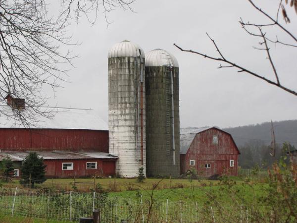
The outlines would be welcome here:
M 204 177 L 237 175 L 240 154 L 231 134 L 216 127 L 182 128 L 181 174 L 196 168 Z

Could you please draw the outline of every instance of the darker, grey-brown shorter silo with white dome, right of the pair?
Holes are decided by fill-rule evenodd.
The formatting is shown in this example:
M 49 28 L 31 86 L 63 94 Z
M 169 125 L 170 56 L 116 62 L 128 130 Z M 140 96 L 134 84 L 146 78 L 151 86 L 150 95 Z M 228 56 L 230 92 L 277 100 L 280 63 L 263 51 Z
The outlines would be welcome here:
M 170 53 L 146 54 L 147 175 L 180 174 L 179 66 Z

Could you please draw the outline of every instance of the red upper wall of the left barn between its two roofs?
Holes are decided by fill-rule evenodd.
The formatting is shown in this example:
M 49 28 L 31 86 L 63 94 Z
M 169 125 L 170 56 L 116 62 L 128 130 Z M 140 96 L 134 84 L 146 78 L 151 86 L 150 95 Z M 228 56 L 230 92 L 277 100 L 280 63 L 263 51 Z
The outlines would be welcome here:
M 0 128 L 2 151 L 101 151 L 108 153 L 108 131 Z

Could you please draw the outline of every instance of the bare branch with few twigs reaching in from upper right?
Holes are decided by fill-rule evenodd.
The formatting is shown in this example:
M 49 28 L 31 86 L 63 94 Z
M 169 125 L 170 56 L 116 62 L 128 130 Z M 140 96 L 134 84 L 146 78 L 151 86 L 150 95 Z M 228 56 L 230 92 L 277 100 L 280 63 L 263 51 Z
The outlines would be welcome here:
M 280 45 L 284 45 L 286 47 L 291 47 L 291 48 L 296 48 L 297 49 L 297 36 L 296 36 L 296 34 L 293 33 L 293 30 L 288 30 L 279 21 L 279 15 L 282 14 L 283 19 L 285 20 L 285 22 L 290 23 L 290 18 L 289 18 L 288 14 L 287 14 L 287 9 L 289 7 L 288 5 L 290 5 L 292 8 L 294 8 L 296 13 L 297 13 L 297 0 L 289 0 L 289 1 L 288 0 L 280 0 L 279 3 L 278 3 L 278 10 L 276 12 L 275 17 L 268 14 L 265 10 L 263 10 L 262 8 L 257 6 L 252 0 L 248 0 L 248 1 L 256 11 L 258 11 L 259 13 L 264 15 L 271 22 L 267 23 L 267 24 L 256 24 L 256 23 L 246 22 L 242 18 L 240 19 L 239 22 L 240 22 L 242 28 L 247 32 L 248 35 L 251 35 L 251 36 L 253 36 L 255 38 L 260 39 L 259 47 L 254 47 L 254 48 L 256 50 L 261 50 L 261 51 L 266 52 L 266 56 L 267 56 L 267 58 L 269 60 L 269 63 L 271 65 L 272 72 L 273 72 L 273 74 L 275 76 L 275 80 L 271 80 L 271 79 L 265 77 L 264 74 L 258 73 L 258 72 L 253 71 L 253 70 L 251 70 L 251 69 L 249 69 L 249 68 L 247 68 L 245 66 L 237 64 L 234 61 L 232 61 L 231 59 L 224 56 L 223 52 L 220 50 L 220 48 L 216 44 L 215 40 L 213 40 L 207 33 L 206 33 L 207 37 L 213 43 L 213 46 L 214 46 L 215 50 L 219 54 L 218 57 L 217 56 L 209 56 L 209 55 L 206 55 L 204 53 L 193 51 L 193 50 L 185 50 L 182 47 L 178 46 L 177 44 L 174 44 L 174 46 L 177 47 L 178 49 L 180 49 L 181 51 L 189 52 L 189 53 L 193 53 L 193 54 L 198 54 L 200 56 L 203 56 L 204 58 L 216 60 L 218 62 L 223 63 L 223 65 L 220 64 L 218 68 L 235 67 L 235 68 L 238 69 L 237 72 L 248 73 L 250 75 L 253 75 L 254 77 L 257 77 L 257 78 L 262 79 L 263 81 L 266 81 L 269 84 L 275 85 L 275 86 L 283 89 L 284 91 L 289 92 L 290 94 L 293 94 L 293 95 L 297 96 L 296 91 L 294 91 L 292 89 L 289 89 L 288 87 L 285 87 L 284 85 L 282 85 L 282 83 L 280 81 L 279 73 L 278 73 L 278 71 L 276 69 L 276 65 L 275 65 L 275 63 L 273 61 L 273 58 L 272 58 L 271 52 L 270 52 L 270 48 L 269 48 L 269 44 L 273 43 L 273 44 L 280 44 Z M 286 7 L 287 7 L 287 9 L 286 9 Z M 277 36 L 275 36 L 275 39 L 271 38 L 271 36 L 273 36 L 273 34 L 269 33 L 269 35 L 268 35 L 268 33 L 267 33 L 267 31 L 270 31 L 269 28 L 271 28 L 271 27 L 278 27 L 283 33 L 285 33 L 286 35 L 289 36 L 290 42 L 285 42 L 285 41 L 279 40 Z

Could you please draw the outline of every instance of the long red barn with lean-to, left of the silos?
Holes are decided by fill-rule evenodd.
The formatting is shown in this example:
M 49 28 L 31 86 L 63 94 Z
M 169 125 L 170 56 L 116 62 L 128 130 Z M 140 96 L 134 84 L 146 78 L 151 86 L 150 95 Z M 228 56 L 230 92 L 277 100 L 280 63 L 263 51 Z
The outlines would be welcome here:
M 29 128 L 15 123 L 11 107 L 5 111 L 11 117 L 0 116 L 0 161 L 8 155 L 17 176 L 29 151 L 44 158 L 47 177 L 115 174 L 117 157 L 108 154 L 108 126 L 97 111 L 55 108 Z

